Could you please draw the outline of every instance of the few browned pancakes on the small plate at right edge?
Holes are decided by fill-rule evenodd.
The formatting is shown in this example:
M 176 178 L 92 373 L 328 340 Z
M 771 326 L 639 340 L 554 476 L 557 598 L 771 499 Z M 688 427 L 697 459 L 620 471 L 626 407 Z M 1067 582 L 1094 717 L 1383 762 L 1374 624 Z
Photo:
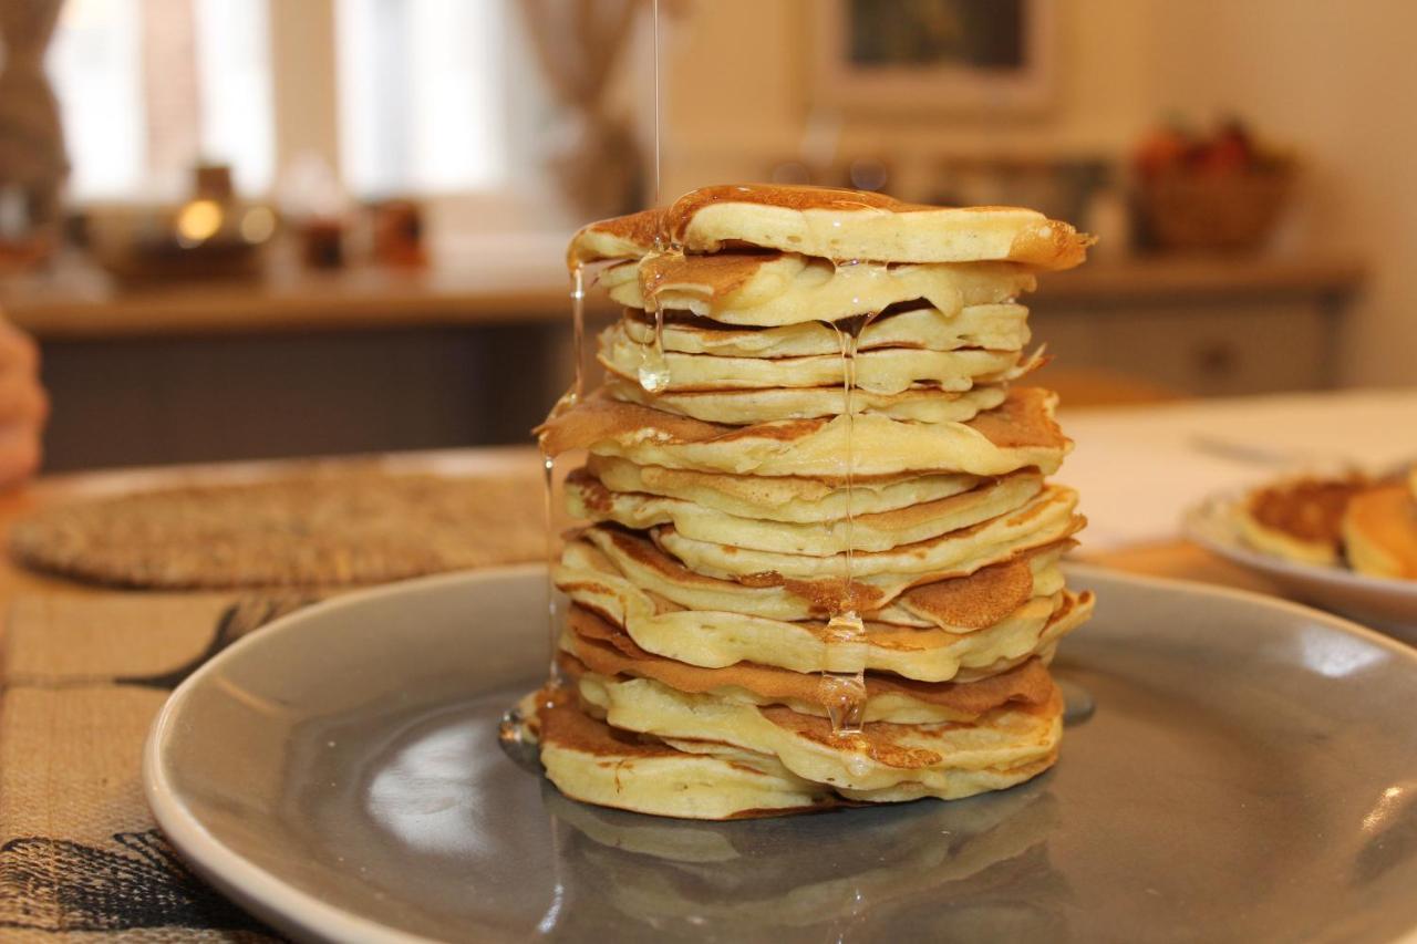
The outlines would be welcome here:
M 1282 479 L 1253 489 L 1234 515 L 1246 541 L 1274 557 L 1417 580 L 1417 466 L 1379 481 L 1356 472 Z

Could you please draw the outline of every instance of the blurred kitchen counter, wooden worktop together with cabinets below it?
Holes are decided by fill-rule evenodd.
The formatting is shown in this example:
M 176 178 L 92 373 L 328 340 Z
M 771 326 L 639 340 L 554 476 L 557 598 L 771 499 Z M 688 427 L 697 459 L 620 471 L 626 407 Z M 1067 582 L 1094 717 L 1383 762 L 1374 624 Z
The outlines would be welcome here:
M 0 279 L 0 309 L 43 347 L 52 471 L 526 442 L 572 374 L 561 244 L 135 289 L 68 259 Z M 1168 397 L 1314 390 L 1362 278 L 1329 257 L 1098 261 L 1029 305 L 1068 370 Z M 591 292 L 588 330 L 612 316 Z

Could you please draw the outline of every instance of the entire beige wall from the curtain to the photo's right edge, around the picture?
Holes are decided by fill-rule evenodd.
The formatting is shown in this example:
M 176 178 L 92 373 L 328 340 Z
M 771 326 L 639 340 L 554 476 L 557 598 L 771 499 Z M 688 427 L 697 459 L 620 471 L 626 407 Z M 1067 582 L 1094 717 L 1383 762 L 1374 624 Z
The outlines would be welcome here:
M 801 154 L 811 17 L 826 1 L 665 0 L 666 197 L 762 179 Z M 1250 116 L 1306 162 L 1288 242 L 1372 262 L 1343 380 L 1417 383 L 1417 174 L 1407 169 L 1417 154 L 1417 3 L 1056 1 L 1060 82 L 1046 115 L 843 115 L 840 152 L 1115 153 L 1172 109 Z M 640 86 L 648 78 L 636 71 Z

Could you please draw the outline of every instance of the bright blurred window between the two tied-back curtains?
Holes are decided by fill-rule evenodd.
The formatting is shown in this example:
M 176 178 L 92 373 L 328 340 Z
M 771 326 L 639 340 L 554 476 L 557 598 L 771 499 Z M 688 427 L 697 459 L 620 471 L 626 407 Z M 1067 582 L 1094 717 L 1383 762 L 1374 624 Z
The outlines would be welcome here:
M 282 28 L 333 50 L 333 99 Z M 269 196 L 303 156 L 281 122 L 360 198 L 496 190 L 538 120 L 519 28 L 512 0 L 68 0 L 48 68 L 71 198 L 174 198 L 198 160 Z

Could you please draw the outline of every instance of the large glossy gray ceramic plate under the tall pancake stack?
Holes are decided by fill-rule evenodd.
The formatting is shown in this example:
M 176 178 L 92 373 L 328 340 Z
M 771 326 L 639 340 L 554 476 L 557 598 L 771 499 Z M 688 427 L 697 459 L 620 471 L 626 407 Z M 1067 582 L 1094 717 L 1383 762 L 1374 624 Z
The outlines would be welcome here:
M 147 795 L 217 887 L 312 940 L 1386 941 L 1417 926 L 1417 655 L 1319 612 L 1077 568 L 1095 713 L 1012 791 L 700 824 L 510 763 L 537 570 L 248 636 L 173 695 Z

